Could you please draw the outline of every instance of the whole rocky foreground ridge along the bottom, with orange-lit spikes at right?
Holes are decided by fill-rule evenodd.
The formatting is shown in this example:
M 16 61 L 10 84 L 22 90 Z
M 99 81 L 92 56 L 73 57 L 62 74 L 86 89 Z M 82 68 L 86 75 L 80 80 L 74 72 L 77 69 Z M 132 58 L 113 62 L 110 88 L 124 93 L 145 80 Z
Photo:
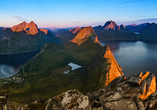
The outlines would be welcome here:
M 154 74 L 120 76 L 106 88 L 83 94 L 68 90 L 47 101 L 38 99 L 31 104 L 11 102 L 0 96 L 0 110 L 156 110 L 157 92 Z

